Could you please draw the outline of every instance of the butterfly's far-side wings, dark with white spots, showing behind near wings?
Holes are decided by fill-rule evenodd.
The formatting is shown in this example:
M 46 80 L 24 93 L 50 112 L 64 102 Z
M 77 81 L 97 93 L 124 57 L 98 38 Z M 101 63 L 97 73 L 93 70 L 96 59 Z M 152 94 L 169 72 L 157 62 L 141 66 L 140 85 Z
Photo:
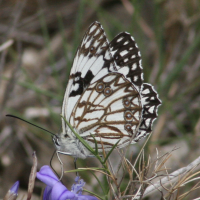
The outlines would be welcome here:
M 123 74 L 141 95 L 142 120 L 139 131 L 133 140 L 133 142 L 137 142 L 152 131 L 161 100 L 152 85 L 143 83 L 141 55 L 134 38 L 129 33 L 122 32 L 110 42 L 109 47 L 117 72 Z

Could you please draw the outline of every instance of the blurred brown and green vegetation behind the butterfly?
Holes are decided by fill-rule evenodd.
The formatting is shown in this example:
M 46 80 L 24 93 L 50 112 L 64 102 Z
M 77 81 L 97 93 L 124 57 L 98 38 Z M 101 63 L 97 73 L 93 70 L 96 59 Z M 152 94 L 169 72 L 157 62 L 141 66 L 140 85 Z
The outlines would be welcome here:
M 20 180 L 21 192 L 26 191 L 34 150 L 38 168 L 49 164 L 54 152 L 48 134 L 5 115 L 20 116 L 54 133 L 60 131 L 70 67 L 85 30 L 96 20 L 109 41 L 123 31 L 134 36 L 142 54 L 145 82 L 154 85 L 163 102 L 145 155 L 154 157 L 156 148 L 160 155 L 178 148 L 167 162 L 169 172 L 199 156 L 199 0 L 0 1 L 0 197 L 16 180 Z M 144 141 L 130 149 L 133 159 Z M 64 156 L 62 160 L 65 170 L 74 168 L 73 158 Z M 59 172 L 58 160 L 54 158 L 52 163 Z M 98 163 L 79 160 L 78 166 Z M 68 188 L 74 177 L 74 173 L 65 175 Z M 81 177 L 90 186 L 88 190 L 98 190 L 92 175 L 82 173 Z M 36 196 L 40 186 L 36 182 Z M 198 196 L 196 190 L 185 199 Z M 161 199 L 161 195 L 146 199 Z

